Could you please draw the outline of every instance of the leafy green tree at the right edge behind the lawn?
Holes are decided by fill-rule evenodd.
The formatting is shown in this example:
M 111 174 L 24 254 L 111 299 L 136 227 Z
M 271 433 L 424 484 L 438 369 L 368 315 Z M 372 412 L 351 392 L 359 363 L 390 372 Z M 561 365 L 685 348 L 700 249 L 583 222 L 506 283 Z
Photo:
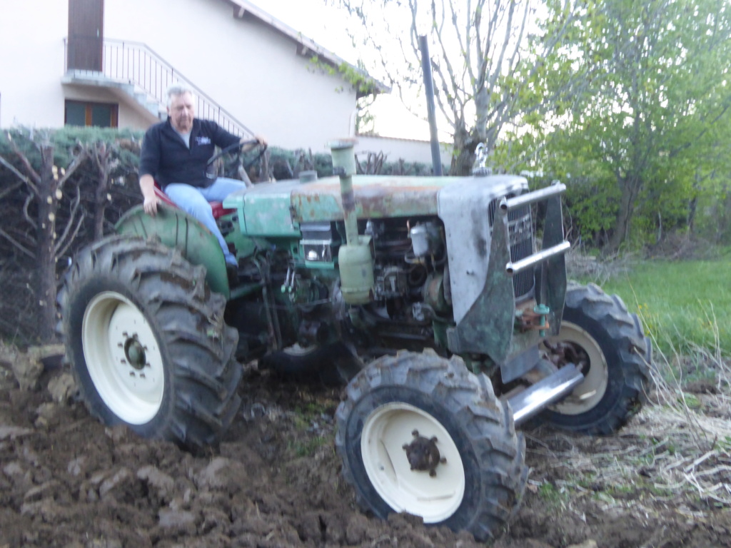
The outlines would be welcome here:
M 583 142 L 584 160 L 612 175 L 611 248 L 638 210 L 660 227 L 664 213 L 683 218 L 678 207 L 692 207 L 702 180 L 727 163 L 718 152 L 731 145 L 730 16 L 726 0 L 600 0 L 570 35 L 594 70 L 591 93 L 575 95 L 566 142 Z

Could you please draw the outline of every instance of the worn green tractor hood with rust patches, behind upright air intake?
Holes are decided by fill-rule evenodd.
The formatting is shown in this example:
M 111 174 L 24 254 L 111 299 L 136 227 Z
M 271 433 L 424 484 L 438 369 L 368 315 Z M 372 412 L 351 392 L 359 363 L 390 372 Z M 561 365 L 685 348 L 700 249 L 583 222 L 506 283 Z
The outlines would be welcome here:
M 521 194 L 527 189 L 526 179 L 515 175 L 355 175 L 352 181 L 358 218 L 438 215 L 442 209 L 439 205 L 442 191 L 446 191 L 445 196 L 459 196 L 461 204 L 480 202 L 482 207 L 478 207 L 485 215 L 486 198 L 489 201 L 510 193 Z M 338 177 L 311 183 L 300 180 L 260 183 L 231 194 L 224 200 L 224 207 L 238 211 L 242 231 L 251 236 L 299 236 L 300 223 L 343 219 Z

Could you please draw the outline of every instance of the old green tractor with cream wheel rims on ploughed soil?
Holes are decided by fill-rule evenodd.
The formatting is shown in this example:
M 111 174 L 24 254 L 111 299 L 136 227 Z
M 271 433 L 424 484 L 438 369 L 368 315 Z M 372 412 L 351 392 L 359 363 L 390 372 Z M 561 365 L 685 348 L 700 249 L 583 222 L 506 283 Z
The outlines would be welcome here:
M 618 297 L 567 283 L 564 185 L 356 176 L 352 140 L 331 146 L 333 177 L 224 200 L 233 283 L 173 207 L 80 251 L 59 294 L 80 395 L 107 425 L 196 447 L 235 419 L 242 362 L 341 377 L 361 506 L 489 538 L 526 486 L 516 428 L 613 433 L 645 399 L 650 344 Z

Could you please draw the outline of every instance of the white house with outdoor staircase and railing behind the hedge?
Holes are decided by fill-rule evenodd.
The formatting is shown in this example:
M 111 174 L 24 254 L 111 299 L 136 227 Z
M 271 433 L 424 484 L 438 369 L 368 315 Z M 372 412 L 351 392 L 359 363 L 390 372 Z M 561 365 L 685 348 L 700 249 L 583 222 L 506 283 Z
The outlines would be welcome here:
M 246 0 L 0 1 L 0 127 L 146 129 L 183 80 L 200 118 L 272 145 L 352 133 L 344 61 Z

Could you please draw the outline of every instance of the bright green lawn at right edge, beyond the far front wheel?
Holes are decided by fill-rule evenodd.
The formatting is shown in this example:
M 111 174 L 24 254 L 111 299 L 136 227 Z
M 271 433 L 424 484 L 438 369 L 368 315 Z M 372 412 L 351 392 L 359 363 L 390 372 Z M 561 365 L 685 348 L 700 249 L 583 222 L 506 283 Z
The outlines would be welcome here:
M 616 293 L 665 354 L 697 348 L 731 355 L 731 256 L 719 261 L 645 261 L 602 289 Z

